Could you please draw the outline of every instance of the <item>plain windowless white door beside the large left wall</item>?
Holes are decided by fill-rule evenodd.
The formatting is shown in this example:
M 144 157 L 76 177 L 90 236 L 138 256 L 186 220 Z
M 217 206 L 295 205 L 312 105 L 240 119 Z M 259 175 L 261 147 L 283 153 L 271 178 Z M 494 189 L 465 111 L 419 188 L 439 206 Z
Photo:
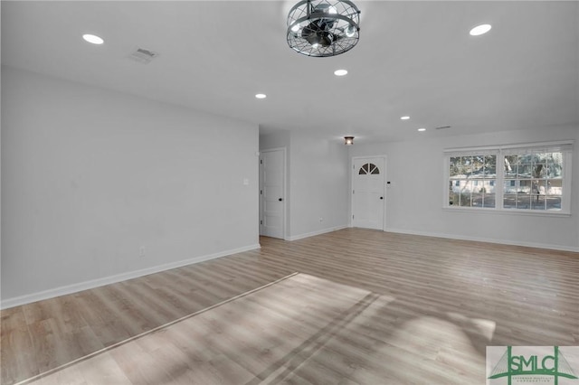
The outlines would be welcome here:
M 284 239 L 285 151 L 261 151 L 260 157 L 260 234 Z

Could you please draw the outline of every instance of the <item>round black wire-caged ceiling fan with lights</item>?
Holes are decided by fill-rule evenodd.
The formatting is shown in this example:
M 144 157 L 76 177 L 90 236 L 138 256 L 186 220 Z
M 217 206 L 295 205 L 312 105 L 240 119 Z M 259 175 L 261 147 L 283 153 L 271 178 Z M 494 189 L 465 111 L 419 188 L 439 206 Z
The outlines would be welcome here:
M 307 56 L 336 56 L 354 48 L 360 11 L 347 0 L 302 0 L 288 14 L 288 44 Z

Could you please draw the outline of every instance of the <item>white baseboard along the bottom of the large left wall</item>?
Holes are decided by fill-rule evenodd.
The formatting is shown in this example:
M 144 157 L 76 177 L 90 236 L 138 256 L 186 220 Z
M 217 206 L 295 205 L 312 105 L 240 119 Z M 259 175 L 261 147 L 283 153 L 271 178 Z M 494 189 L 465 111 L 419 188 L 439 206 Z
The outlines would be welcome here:
M 245 246 L 239 249 L 225 250 L 214 254 L 199 256 L 195 258 L 183 259 L 176 262 L 166 263 L 163 265 L 158 265 L 152 268 L 143 268 L 136 271 L 129 271 L 128 273 L 117 274 L 109 277 L 102 277 L 97 279 L 91 279 L 90 281 L 80 282 L 78 284 L 72 284 L 68 286 L 56 287 L 49 290 L 44 290 L 42 292 L 27 294 L 25 296 L 16 296 L 14 298 L 8 298 L 0 302 L 0 309 L 7 309 L 9 307 L 30 304 L 36 301 L 42 301 L 43 299 L 54 298 L 56 296 L 65 296 L 72 293 L 78 293 L 82 290 L 88 290 L 91 288 L 105 286 L 109 284 L 115 284 L 117 282 L 126 281 L 128 279 L 148 276 L 149 274 L 159 273 L 161 271 L 170 270 L 172 268 L 182 268 L 186 265 L 192 265 L 199 262 L 204 262 L 206 260 L 222 258 L 230 256 L 232 254 L 242 253 L 243 251 L 249 251 L 254 249 L 260 249 L 259 244 L 254 244 L 250 246 Z

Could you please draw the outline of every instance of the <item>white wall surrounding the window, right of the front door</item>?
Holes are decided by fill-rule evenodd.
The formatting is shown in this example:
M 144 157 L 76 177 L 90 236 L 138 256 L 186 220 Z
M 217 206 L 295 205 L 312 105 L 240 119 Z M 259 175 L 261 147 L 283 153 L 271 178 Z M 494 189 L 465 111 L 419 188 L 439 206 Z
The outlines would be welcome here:
M 571 216 L 442 210 L 443 150 L 574 139 Z M 551 127 L 409 142 L 356 143 L 350 156 L 387 155 L 386 230 L 579 251 L 579 128 Z M 435 186 L 424 193 L 423 186 Z

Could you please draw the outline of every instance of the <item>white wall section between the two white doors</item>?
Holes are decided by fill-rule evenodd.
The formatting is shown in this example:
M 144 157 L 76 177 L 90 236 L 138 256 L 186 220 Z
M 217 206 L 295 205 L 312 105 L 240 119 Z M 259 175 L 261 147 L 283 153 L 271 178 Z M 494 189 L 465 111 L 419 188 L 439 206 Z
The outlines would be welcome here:
M 349 165 L 343 142 L 289 131 L 260 136 L 261 150 L 274 147 L 288 154 L 286 239 L 345 228 Z

